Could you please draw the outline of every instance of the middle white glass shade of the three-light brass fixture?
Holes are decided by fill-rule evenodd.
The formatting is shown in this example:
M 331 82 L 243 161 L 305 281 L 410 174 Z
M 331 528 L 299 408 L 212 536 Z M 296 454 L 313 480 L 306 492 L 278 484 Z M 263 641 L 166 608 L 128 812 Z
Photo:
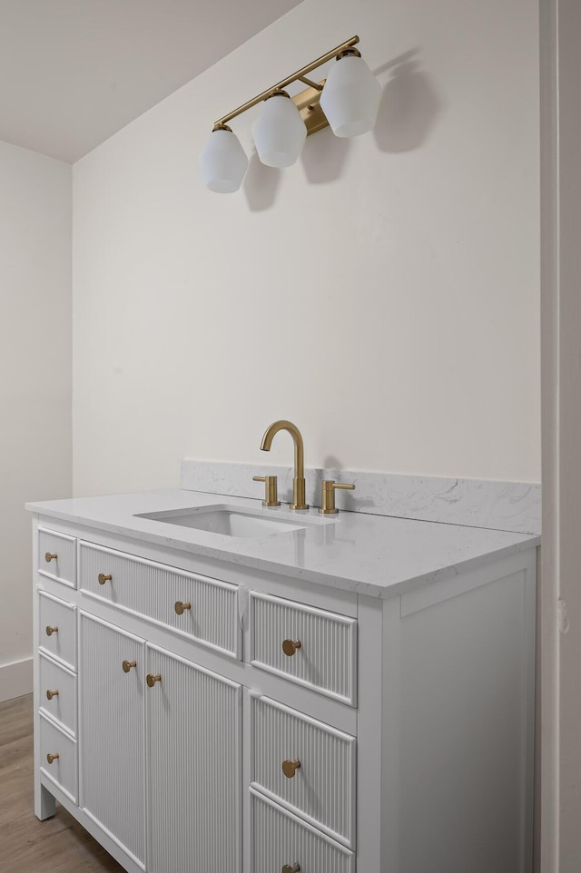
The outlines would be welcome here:
M 290 167 L 300 155 L 307 128 L 291 98 L 275 94 L 265 101 L 252 136 L 262 163 L 267 167 Z

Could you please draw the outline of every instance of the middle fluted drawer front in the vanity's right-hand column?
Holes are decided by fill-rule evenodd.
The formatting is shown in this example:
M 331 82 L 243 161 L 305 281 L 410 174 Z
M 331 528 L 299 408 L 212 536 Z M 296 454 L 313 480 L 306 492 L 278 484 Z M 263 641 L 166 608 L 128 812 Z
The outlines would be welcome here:
M 253 786 L 348 848 L 355 848 L 355 750 L 354 737 L 251 695 Z

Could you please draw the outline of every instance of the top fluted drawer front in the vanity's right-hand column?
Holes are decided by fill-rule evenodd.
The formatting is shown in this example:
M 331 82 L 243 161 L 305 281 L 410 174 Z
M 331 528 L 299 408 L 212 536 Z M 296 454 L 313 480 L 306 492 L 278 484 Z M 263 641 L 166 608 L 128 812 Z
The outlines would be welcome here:
M 354 618 L 251 592 L 251 663 L 357 705 Z

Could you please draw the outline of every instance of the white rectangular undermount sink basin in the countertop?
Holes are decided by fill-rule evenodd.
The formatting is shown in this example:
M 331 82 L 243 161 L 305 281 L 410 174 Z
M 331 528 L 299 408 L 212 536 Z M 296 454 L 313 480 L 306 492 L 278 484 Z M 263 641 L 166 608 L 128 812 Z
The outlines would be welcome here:
M 163 522 L 166 525 L 192 527 L 199 531 L 209 531 L 211 534 L 225 536 L 260 537 L 272 534 L 283 534 L 288 531 L 300 531 L 314 522 L 307 524 L 302 519 L 269 518 L 248 512 L 240 506 L 196 506 L 192 509 L 170 509 L 165 512 L 141 513 L 138 518 L 149 518 L 152 521 Z

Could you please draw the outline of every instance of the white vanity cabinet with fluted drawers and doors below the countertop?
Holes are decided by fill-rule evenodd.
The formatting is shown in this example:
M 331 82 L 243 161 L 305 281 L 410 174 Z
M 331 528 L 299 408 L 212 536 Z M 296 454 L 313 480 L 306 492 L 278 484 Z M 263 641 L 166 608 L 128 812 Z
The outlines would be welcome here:
M 532 873 L 535 546 L 379 596 L 38 515 L 34 583 L 36 815 L 129 873 Z

